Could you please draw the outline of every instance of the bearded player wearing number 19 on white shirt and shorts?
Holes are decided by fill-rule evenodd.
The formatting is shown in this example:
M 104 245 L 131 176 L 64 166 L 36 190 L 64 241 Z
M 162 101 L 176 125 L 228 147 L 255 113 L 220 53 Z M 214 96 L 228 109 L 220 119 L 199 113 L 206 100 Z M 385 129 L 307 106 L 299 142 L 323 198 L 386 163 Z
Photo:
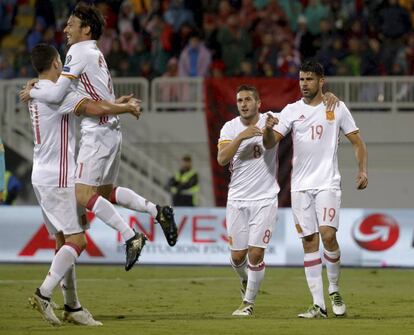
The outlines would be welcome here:
M 344 316 L 346 306 L 339 293 L 340 248 L 336 239 L 341 204 L 338 144 L 342 132 L 352 143 L 358 162 L 356 188 L 368 185 L 367 150 L 351 113 L 343 102 L 326 108 L 322 102 L 324 71 L 314 61 L 302 64 L 299 85 L 303 98 L 287 105 L 279 120 L 269 116 L 263 134 L 267 149 L 292 132 L 295 148 L 292 161 L 292 211 L 304 250 L 305 275 L 313 305 L 301 318 L 326 318 L 319 239 L 329 280 L 329 296 L 335 316 Z M 278 122 L 278 124 L 277 124 Z

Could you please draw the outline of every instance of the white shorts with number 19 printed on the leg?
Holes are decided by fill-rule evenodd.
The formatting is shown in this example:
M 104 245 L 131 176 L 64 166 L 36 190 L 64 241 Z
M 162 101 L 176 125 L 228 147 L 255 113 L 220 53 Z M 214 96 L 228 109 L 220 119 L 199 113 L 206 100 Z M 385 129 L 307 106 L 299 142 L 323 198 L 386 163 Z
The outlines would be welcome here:
M 292 211 L 299 237 L 319 232 L 319 226 L 338 230 L 341 190 L 292 192 Z

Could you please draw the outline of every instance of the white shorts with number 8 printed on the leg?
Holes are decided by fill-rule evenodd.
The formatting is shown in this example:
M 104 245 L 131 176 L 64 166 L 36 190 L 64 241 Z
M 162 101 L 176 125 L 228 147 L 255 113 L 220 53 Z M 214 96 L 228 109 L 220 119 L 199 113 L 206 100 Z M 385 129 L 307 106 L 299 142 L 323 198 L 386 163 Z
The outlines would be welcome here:
M 231 250 L 266 248 L 277 220 L 277 197 L 257 201 L 229 200 L 227 235 Z

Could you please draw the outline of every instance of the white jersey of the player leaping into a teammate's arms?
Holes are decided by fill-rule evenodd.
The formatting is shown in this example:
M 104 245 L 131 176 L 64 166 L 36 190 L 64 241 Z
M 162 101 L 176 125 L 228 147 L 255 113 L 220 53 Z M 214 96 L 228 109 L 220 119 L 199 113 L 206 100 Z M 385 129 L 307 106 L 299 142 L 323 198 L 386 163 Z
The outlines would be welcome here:
M 89 99 L 115 101 L 111 74 L 96 41 L 73 44 L 66 55 L 62 76 L 72 79 L 72 89 Z M 117 127 L 118 116 L 84 117 L 82 129 Z

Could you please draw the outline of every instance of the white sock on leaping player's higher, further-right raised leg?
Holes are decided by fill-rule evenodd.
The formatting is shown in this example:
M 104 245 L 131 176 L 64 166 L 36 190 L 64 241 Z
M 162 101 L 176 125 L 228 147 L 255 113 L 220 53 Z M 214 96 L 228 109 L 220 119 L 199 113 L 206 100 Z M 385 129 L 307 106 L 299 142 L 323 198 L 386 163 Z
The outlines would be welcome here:
M 139 194 L 125 187 L 116 187 L 111 194 L 111 202 L 137 212 L 145 212 L 157 216 L 157 207 Z

